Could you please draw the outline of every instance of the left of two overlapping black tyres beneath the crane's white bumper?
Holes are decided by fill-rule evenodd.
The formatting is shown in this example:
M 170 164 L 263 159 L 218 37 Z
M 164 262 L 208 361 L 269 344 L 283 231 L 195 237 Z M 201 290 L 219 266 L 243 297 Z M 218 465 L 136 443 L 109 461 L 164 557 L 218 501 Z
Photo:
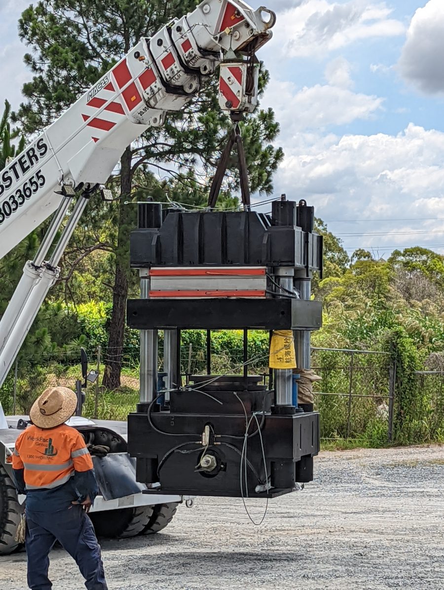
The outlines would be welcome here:
M 123 539 L 142 533 L 149 525 L 152 514 L 152 506 L 137 506 L 136 508 L 91 512 L 90 518 L 98 537 Z

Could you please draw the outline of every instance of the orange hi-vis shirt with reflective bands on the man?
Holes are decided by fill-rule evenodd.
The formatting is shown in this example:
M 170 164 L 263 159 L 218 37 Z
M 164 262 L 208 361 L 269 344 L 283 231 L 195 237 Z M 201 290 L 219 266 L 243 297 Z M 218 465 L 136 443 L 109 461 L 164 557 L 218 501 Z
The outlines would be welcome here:
M 66 424 L 56 428 L 29 426 L 15 442 L 12 467 L 24 469 L 27 490 L 54 489 L 75 471 L 93 469 L 93 460 L 80 432 Z

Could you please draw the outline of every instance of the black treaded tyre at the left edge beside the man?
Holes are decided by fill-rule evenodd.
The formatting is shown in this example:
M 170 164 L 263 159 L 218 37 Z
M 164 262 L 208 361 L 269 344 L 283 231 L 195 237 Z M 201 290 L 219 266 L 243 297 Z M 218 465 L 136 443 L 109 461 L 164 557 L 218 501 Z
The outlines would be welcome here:
M 9 555 L 18 548 L 15 533 L 21 513 L 14 482 L 0 465 L 0 555 Z

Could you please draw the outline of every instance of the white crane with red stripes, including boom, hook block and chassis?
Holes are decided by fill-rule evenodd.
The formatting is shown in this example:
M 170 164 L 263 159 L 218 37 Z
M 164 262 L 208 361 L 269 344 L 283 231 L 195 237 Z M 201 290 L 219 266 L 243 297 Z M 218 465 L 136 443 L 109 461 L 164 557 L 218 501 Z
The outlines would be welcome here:
M 98 187 L 104 196 L 101 185 L 108 181 L 126 146 L 149 127 L 162 126 L 168 112 L 182 110 L 199 93 L 203 79 L 222 63 L 224 53 L 233 50 L 251 56 L 271 38 L 269 29 L 274 22 L 274 14 L 264 7 L 255 11 L 241 0 L 204 0 L 193 12 L 173 19 L 152 38 L 141 39 L 0 171 L 0 259 L 53 216 L 0 320 L 0 387 L 48 290 L 60 276 L 58 264 L 88 197 Z M 235 68 L 233 65 L 231 74 L 236 84 L 226 68 L 221 76 L 220 93 L 225 97 L 221 99 L 222 108 L 234 91 L 239 112 L 252 112 L 257 87 L 246 92 L 245 81 L 241 80 L 246 70 Z M 256 73 L 254 79 L 257 86 Z M 232 108 L 226 106 L 225 110 Z M 47 258 L 63 224 L 61 237 Z M 9 417 L 8 423 L 0 404 L 0 476 L 6 478 L 6 483 L 8 477 L 11 479 L 11 490 L 11 457 L 16 428 L 26 427 L 23 418 Z M 96 512 L 105 512 L 105 518 L 101 525 L 96 522 L 94 526 L 105 525 L 107 529 L 113 517 L 106 511 L 123 509 L 127 511 L 126 520 L 114 536 L 156 532 L 172 518 L 177 502 L 190 501 L 189 496 L 149 497 L 142 493 L 144 487 L 136 483 L 134 461 L 131 463 L 126 453 L 126 424 L 80 419 L 73 426 L 91 441 L 105 436 L 110 448 L 115 447 L 107 461 L 94 457 L 96 471 L 104 470 L 103 480 L 110 484 L 101 490 L 95 507 Z M 122 488 L 123 481 L 126 487 Z M 12 491 L 2 498 L 1 492 L 0 487 L 0 504 L 4 506 L 0 514 L 0 553 L 10 553 L 17 548 L 14 536 L 23 499 L 12 497 Z

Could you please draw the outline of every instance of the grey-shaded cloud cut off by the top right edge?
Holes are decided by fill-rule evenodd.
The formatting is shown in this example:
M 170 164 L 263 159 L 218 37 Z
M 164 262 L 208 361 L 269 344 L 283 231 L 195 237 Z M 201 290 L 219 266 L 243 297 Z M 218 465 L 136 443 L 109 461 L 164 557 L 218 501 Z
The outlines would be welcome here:
M 444 4 L 430 0 L 417 9 L 399 60 L 403 77 L 425 93 L 444 92 Z

